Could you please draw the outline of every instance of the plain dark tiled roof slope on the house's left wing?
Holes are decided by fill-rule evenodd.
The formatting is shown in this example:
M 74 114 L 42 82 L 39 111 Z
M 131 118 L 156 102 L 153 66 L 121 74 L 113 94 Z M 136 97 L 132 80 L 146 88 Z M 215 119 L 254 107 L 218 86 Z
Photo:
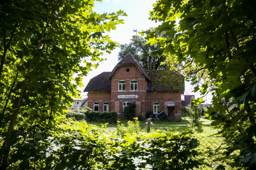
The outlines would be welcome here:
M 102 72 L 93 77 L 87 84 L 84 92 L 111 92 L 111 80 L 107 79 L 110 72 Z

